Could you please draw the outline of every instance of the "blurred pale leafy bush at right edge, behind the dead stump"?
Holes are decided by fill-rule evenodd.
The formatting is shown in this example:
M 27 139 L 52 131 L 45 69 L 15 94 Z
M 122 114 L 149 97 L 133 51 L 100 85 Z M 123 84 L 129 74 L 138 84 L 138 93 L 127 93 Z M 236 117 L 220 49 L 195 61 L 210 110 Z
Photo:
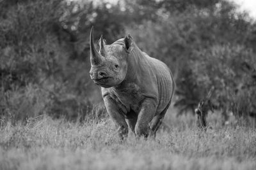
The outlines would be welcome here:
M 253 112 L 255 80 L 246 71 L 246 64 L 250 67 L 256 64 L 252 50 L 241 45 L 224 45 L 212 46 L 209 52 L 205 52 L 198 55 L 201 59 L 197 63 L 201 67 L 195 70 L 197 82 L 205 87 L 204 82 L 208 80 L 209 84 L 217 88 L 214 97 L 217 99 L 216 105 L 232 106 L 229 109 L 233 109 L 239 117 Z

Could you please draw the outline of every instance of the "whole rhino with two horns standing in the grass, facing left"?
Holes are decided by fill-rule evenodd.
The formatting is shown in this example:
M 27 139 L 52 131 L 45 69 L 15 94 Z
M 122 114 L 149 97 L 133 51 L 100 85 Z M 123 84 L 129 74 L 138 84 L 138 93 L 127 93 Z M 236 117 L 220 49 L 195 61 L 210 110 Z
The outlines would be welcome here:
M 171 104 L 172 72 L 160 60 L 149 57 L 128 35 L 111 45 L 101 36 L 99 51 L 90 32 L 90 78 L 101 87 L 110 118 L 120 139 L 128 129 L 137 137 L 153 136 Z

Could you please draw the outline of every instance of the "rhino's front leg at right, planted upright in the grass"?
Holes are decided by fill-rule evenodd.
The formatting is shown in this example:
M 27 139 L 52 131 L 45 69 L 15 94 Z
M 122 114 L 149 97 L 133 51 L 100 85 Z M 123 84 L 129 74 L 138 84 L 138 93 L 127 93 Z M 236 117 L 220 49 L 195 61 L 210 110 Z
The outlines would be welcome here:
M 145 99 L 141 104 L 141 110 L 135 125 L 136 136 L 144 136 L 147 138 L 150 128 L 150 122 L 156 114 L 157 104 L 154 99 Z

